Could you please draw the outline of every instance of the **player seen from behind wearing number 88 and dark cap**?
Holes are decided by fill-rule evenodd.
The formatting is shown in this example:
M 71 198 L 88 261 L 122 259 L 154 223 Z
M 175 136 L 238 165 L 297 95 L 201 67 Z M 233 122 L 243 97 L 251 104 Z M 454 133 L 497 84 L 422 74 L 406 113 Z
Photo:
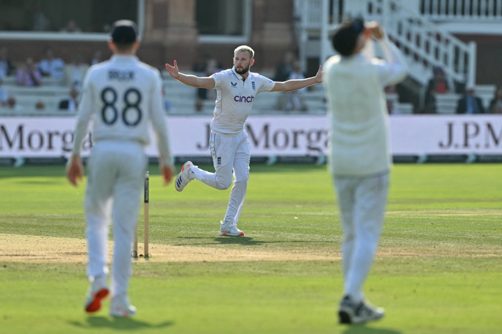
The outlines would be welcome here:
M 137 226 L 144 175 L 148 163 L 148 124 L 157 135 L 160 168 L 169 183 L 174 166 L 162 105 L 160 72 L 135 56 L 140 46 L 138 27 L 129 20 L 115 22 L 108 42 L 113 56 L 92 66 L 84 80 L 82 101 L 66 175 L 76 184 L 83 174 L 80 148 L 93 119 L 93 140 L 88 159 L 85 192 L 86 236 L 89 252 L 87 275 L 91 285 L 85 310 L 95 312 L 108 294 L 108 228 L 113 216 L 115 246 L 111 277 L 111 316 L 136 314 L 129 302 L 131 252 Z

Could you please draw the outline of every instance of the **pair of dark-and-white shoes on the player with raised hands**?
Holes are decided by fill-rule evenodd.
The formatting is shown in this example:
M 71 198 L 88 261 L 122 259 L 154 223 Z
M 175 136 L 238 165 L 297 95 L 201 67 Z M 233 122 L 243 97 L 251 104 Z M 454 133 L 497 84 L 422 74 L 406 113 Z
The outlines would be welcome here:
M 340 323 L 363 323 L 381 319 L 384 315 L 383 308 L 373 307 L 364 301 L 354 302 L 348 295 L 341 300 L 338 310 Z

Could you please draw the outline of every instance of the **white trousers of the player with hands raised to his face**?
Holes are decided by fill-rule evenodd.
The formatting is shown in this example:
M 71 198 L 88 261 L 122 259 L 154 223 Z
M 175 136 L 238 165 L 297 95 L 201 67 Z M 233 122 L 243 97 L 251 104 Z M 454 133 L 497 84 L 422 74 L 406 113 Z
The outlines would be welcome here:
M 363 300 L 366 280 L 384 223 L 389 173 L 334 178 L 343 229 L 342 261 L 345 295 Z

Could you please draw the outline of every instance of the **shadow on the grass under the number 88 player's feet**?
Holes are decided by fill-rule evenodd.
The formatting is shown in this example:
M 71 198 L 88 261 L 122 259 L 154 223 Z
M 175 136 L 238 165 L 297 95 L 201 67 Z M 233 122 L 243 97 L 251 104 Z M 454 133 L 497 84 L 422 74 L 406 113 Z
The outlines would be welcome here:
M 165 321 L 159 324 L 152 324 L 144 321 L 135 320 L 132 317 L 104 317 L 104 316 L 89 316 L 86 323 L 78 321 L 70 321 L 71 325 L 79 328 L 113 328 L 121 330 L 139 330 L 146 328 L 164 328 L 174 324 L 173 321 Z

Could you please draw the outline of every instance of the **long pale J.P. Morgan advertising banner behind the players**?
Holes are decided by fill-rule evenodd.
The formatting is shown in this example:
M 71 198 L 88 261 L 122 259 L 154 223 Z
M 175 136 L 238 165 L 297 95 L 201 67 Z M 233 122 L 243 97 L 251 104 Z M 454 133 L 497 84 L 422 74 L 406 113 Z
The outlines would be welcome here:
M 75 121 L 64 116 L 1 118 L 0 163 L 16 163 L 20 158 L 34 163 L 66 161 Z M 173 156 L 210 163 L 210 121 L 210 116 L 168 116 Z M 502 161 L 502 115 L 393 115 L 389 126 L 397 162 Z M 268 115 L 250 116 L 245 129 L 253 161 L 322 163 L 328 150 L 328 127 L 327 116 Z M 91 146 L 89 132 L 83 156 Z M 146 152 L 157 157 L 154 140 Z

